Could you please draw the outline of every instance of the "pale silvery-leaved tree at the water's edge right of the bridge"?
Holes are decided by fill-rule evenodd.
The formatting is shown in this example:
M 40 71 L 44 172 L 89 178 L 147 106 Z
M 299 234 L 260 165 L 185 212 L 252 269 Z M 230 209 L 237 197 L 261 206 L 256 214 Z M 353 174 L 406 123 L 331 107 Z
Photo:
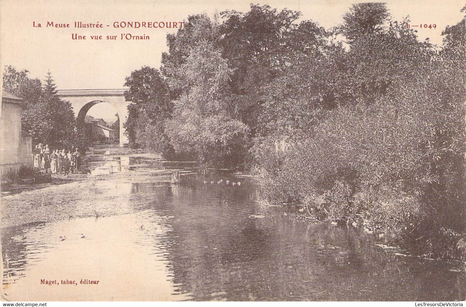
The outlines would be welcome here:
M 218 25 L 205 15 L 191 20 L 186 29 L 196 40 L 185 45 L 184 55 L 175 56 L 175 51 L 164 57 L 169 85 L 180 93 L 165 131 L 177 153 L 192 154 L 203 163 L 235 164 L 244 156 L 249 128 L 234 111 L 233 69 L 218 47 Z M 185 32 L 178 34 L 171 45 L 185 43 Z

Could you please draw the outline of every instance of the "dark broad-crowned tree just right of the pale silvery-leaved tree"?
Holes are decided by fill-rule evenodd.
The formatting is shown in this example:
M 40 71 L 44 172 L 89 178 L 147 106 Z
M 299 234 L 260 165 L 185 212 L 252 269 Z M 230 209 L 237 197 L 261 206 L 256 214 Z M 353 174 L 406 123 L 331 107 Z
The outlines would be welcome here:
M 251 5 L 246 14 L 225 11 L 219 25 L 222 56 L 233 68 L 230 86 L 239 118 L 250 127 L 251 136 L 262 129 L 264 100 L 269 84 L 289 69 L 322 55 L 327 33 L 311 20 L 297 23 L 301 13 Z M 265 96 L 265 97 L 264 97 Z

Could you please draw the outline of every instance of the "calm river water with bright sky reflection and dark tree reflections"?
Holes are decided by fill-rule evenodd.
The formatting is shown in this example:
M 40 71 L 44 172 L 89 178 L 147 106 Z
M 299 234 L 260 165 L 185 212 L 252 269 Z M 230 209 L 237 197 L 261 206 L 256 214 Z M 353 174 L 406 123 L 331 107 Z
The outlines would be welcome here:
M 177 185 L 157 176 L 119 185 L 119 193 L 150 196 L 130 214 L 2 229 L 5 299 L 466 298 L 463 263 L 408 256 L 357 227 L 297 220 L 298 208 L 261 204 L 250 177 L 190 174 L 190 164 L 144 157 L 89 161 L 93 175 L 161 165 L 186 175 Z

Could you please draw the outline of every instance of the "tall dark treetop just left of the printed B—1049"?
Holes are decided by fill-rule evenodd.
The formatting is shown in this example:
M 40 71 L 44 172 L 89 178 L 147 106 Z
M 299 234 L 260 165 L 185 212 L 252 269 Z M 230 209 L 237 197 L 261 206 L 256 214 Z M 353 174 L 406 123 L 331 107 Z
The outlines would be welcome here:
M 434 50 L 427 41 L 419 42 L 413 29 L 391 20 L 384 3 L 352 5 L 337 33 L 349 42 L 344 53 L 346 88 L 353 104 L 373 103 L 391 89 L 410 81 L 412 72 L 430 62 Z

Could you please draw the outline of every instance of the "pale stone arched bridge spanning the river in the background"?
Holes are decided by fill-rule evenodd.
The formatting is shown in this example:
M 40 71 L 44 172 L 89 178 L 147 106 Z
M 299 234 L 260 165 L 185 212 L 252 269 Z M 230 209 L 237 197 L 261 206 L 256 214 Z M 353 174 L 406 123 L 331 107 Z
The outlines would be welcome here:
M 58 96 L 71 103 L 76 119 L 84 122 L 89 109 L 100 102 L 108 102 L 116 110 L 120 118 L 120 146 L 128 143 L 128 138 L 124 135 L 123 123 L 128 117 L 128 104 L 124 100 L 126 89 L 61 89 L 57 90 Z

